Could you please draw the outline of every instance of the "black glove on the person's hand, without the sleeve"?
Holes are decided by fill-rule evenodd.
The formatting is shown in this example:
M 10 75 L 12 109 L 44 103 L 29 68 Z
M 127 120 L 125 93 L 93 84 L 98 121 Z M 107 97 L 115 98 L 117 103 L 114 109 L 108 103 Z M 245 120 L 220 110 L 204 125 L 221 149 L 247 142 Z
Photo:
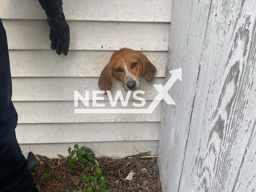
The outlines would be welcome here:
M 47 23 L 51 27 L 51 49 L 56 50 L 58 55 L 61 55 L 61 53 L 67 55 L 70 41 L 69 26 L 65 20 L 62 6 L 57 9 L 45 11 L 45 13 L 47 16 Z

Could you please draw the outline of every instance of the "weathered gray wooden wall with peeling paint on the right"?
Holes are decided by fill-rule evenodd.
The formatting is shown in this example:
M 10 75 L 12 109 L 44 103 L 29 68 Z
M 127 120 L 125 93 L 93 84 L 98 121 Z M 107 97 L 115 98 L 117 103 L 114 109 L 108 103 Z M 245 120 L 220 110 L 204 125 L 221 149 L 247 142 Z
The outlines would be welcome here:
M 174 0 L 160 177 L 166 192 L 256 191 L 256 0 Z M 170 74 L 169 74 L 170 78 Z

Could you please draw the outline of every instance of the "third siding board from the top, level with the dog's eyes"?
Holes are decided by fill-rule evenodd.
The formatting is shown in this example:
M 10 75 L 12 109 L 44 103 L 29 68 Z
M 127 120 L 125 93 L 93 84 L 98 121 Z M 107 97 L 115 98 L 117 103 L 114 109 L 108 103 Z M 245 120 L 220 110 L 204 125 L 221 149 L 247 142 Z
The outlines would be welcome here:
M 12 77 L 99 77 L 114 51 L 70 50 L 58 56 L 53 50 L 10 50 Z M 143 52 L 165 77 L 168 52 Z

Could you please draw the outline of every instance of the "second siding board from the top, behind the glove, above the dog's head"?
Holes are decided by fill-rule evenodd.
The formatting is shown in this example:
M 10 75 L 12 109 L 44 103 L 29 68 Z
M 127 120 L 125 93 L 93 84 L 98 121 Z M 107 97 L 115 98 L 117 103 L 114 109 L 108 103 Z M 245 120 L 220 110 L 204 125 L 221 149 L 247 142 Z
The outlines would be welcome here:
M 45 20 L 2 20 L 9 49 L 50 50 Z M 69 21 L 70 50 L 167 51 L 170 23 Z

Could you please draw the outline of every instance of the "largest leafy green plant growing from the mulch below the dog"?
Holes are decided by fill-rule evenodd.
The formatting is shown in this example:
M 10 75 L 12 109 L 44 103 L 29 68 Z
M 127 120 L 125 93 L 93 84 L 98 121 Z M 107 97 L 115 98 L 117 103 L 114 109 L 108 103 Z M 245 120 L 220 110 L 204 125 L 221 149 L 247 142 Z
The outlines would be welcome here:
M 85 182 L 84 191 L 85 192 L 93 192 L 96 189 L 100 190 L 100 192 L 111 192 L 108 189 L 108 180 L 102 176 L 102 171 L 99 167 L 97 160 L 95 160 L 91 154 L 86 152 L 86 147 L 82 146 L 79 148 L 78 144 L 74 145 L 74 149 L 72 150 L 70 147 L 68 148 L 68 158 L 67 164 L 71 168 L 76 168 L 76 164 L 82 166 L 83 173 L 81 176 L 81 182 Z M 82 158 L 81 155 L 85 154 L 87 158 Z M 88 170 L 91 170 L 91 174 L 89 174 Z M 79 192 L 79 190 L 74 190 L 73 192 Z

